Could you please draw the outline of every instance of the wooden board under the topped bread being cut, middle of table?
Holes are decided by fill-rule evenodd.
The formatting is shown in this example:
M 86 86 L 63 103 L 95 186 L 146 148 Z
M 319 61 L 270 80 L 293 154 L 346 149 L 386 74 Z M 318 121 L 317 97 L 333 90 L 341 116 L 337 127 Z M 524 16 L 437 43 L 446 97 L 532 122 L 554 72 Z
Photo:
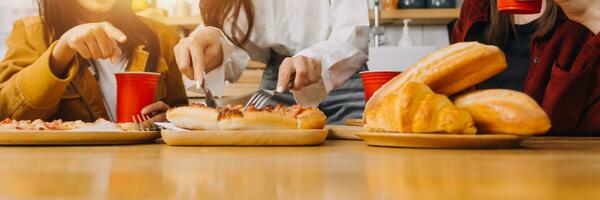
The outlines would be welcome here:
M 162 139 L 174 146 L 309 146 L 320 145 L 327 129 L 301 130 L 162 130 Z

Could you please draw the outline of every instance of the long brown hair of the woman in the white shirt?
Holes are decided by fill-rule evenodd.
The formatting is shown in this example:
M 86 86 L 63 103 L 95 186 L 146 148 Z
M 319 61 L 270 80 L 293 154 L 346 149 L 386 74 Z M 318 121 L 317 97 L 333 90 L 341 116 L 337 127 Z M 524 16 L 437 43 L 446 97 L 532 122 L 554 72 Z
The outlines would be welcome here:
M 240 13 L 246 13 L 246 31 L 237 26 Z M 226 34 L 236 46 L 241 47 L 250 38 L 254 29 L 254 5 L 251 0 L 202 0 L 200 13 L 206 26 L 223 29 L 226 21 L 231 20 L 231 29 Z M 229 18 L 231 16 L 231 19 Z

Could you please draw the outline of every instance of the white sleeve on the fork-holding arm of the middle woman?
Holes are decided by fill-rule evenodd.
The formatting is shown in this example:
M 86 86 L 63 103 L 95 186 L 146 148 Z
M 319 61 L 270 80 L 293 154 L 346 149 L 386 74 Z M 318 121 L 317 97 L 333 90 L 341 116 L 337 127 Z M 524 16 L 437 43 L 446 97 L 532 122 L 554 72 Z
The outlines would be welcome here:
M 332 32 L 328 40 L 316 43 L 297 55 L 321 61 L 322 82 L 292 91 L 303 106 L 317 106 L 331 90 L 346 82 L 367 60 L 369 9 L 365 0 L 331 0 Z

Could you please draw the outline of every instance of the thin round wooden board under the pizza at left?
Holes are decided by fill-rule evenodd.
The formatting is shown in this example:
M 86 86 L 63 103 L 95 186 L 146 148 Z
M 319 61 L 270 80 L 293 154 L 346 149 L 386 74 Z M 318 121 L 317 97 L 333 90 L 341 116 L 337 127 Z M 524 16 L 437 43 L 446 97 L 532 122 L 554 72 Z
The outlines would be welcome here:
M 158 131 L 2 131 L 0 145 L 108 145 L 154 142 Z

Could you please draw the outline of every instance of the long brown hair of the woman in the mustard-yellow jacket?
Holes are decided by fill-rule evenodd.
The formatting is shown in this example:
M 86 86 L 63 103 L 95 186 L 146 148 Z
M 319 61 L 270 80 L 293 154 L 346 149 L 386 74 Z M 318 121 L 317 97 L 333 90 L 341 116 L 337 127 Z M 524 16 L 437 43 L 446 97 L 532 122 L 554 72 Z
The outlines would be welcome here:
M 144 45 L 150 53 L 146 70 L 154 71 L 158 64 L 160 46 L 152 29 L 133 12 L 131 0 L 117 0 L 111 10 L 109 23 L 127 35 L 127 42 L 121 45 L 125 58 L 131 58 L 135 48 Z M 42 17 L 46 37 L 52 43 L 73 27 L 81 24 L 77 11 L 83 8 L 77 0 L 38 0 L 39 15 Z M 79 57 L 82 60 L 81 57 Z

